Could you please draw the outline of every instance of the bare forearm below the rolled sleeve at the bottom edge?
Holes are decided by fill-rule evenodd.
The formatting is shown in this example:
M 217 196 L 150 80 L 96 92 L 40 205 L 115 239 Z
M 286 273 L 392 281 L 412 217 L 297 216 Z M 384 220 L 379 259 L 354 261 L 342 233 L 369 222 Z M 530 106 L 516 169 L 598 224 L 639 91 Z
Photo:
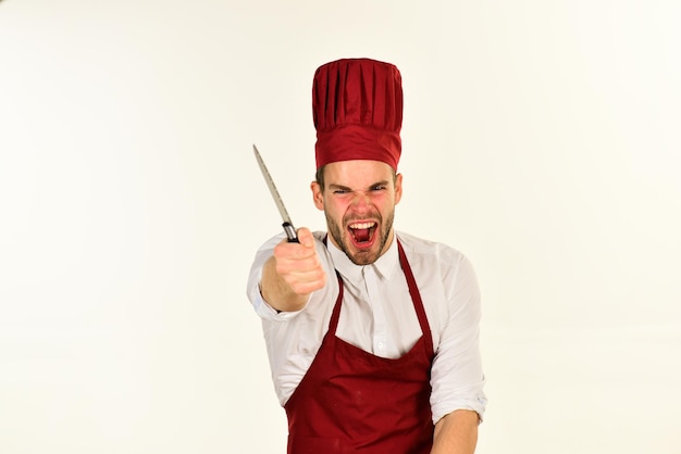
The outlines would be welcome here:
M 478 443 L 478 413 L 457 409 L 435 425 L 431 454 L 473 454 Z

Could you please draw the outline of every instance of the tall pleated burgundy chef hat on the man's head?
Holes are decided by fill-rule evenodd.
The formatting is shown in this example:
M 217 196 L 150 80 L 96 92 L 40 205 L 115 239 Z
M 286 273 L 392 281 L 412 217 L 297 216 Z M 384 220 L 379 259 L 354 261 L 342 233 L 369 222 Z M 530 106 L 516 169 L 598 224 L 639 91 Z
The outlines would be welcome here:
M 326 63 L 314 73 L 312 116 L 317 168 L 349 160 L 373 160 L 397 169 L 401 153 L 401 75 L 370 59 Z

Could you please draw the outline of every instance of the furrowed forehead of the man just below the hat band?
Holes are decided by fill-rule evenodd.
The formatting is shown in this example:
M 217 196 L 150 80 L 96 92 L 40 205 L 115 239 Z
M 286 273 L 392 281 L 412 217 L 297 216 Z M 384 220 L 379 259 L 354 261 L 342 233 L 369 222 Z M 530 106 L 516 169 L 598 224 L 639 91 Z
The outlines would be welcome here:
M 382 181 L 393 181 L 394 171 L 384 162 L 369 160 L 338 161 L 324 166 L 326 185 L 363 188 Z

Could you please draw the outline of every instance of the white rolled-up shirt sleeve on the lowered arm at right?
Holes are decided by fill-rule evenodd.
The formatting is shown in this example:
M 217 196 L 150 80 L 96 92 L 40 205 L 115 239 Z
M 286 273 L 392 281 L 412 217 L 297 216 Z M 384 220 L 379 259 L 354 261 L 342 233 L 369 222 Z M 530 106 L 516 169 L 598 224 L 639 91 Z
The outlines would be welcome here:
M 435 352 L 431 375 L 433 424 L 457 411 L 474 411 L 481 420 L 486 406 L 480 353 L 480 288 L 463 255 L 444 267 L 448 318 Z M 457 260 L 458 258 L 458 260 Z

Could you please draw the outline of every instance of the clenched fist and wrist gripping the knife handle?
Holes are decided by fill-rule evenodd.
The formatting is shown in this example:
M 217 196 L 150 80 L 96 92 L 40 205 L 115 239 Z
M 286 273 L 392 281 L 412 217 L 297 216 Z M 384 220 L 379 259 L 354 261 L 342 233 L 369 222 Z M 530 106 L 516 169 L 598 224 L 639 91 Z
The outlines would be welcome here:
M 301 310 L 310 293 L 326 282 L 312 232 L 298 229 L 298 240 L 300 243 L 278 243 L 262 268 L 260 294 L 280 312 Z

